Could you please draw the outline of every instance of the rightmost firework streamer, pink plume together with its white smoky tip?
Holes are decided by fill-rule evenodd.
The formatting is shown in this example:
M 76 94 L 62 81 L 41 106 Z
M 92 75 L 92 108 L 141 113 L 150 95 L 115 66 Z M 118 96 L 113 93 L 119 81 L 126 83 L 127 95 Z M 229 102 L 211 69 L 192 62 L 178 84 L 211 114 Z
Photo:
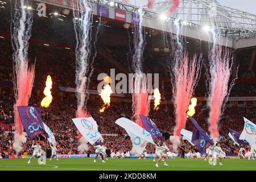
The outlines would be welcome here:
M 225 110 L 230 91 L 236 78 L 229 85 L 233 60 L 229 48 L 222 48 L 222 37 L 216 27 L 212 27 L 208 35 L 208 59 L 209 59 L 209 92 L 207 105 L 210 109 L 208 123 L 210 135 L 214 142 L 218 140 L 218 122 Z M 212 43 L 210 43 L 212 42 Z

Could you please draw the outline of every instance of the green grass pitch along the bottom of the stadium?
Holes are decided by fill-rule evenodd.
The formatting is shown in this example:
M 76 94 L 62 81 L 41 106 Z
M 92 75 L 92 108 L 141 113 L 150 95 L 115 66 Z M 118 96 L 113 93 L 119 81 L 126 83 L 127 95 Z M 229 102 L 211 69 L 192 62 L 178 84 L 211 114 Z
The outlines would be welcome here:
M 118 170 L 142 170 L 142 171 L 156 171 L 156 170 L 170 170 L 170 171 L 243 171 L 256 170 L 256 160 L 247 159 L 224 159 L 224 166 L 211 166 L 204 159 L 168 159 L 168 167 L 163 166 L 163 162 L 159 163 L 159 168 L 155 167 L 153 159 L 109 159 L 102 163 L 97 159 L 93 163 L 93 158 L 76 158 L 76 159 L 53 159 L 49 161 L 46 159 L 46 165 L 38 164 L 37 159 L 33 159 L 28 164 L 28 159 L 0 159 L 0 171 L 118 171 Z

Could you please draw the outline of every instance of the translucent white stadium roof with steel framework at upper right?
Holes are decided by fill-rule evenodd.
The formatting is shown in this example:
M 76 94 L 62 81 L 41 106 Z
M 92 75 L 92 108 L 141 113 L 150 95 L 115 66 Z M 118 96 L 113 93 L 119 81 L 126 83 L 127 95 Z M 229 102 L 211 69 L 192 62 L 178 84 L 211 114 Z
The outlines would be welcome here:
M 170 1 L 156 0 L 151 10 L 148 10 L 146 4 L 143 9 L 155 14 L 166 14 L 170 6 Z M 180 18 L 200 26 L 216 27 L 229 39 L 256 37 L 255 14 L 223 6 L 216 0 L 181 0 L 172 18 Z

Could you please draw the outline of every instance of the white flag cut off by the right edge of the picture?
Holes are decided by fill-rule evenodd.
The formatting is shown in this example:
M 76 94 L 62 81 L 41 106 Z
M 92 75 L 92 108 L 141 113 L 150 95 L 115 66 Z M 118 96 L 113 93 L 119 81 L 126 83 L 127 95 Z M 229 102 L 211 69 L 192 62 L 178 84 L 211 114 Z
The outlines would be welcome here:
M 256 150 L 256 125 L 243 117 L 243 121 L 245 121 L 245 126 L 243 127 L 243 131 L 239 137 L 240 140 L 246 140 L 251 148 Z

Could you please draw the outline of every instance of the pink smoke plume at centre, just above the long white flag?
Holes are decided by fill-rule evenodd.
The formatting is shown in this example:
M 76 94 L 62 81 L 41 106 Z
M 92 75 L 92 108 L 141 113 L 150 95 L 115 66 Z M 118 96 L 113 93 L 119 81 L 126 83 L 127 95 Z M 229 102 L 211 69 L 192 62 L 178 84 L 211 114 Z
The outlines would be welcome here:
M 136 80 L 136 78 L 135 78 Z M 136 81 L 135 81 L 136 83 Z M 138 82 L 137 82 L 138 83 Z M 135 91 L 136 90 L 136 91 Z M 135 122 L 144 128 L 144 125 L 139 117 L 139 114 L 148 115 L 150 111 L 150 100 L 148 100 L 147 81 L 139 81 L 139 84 L 134 85 L 133 98 L 133 115 Z

